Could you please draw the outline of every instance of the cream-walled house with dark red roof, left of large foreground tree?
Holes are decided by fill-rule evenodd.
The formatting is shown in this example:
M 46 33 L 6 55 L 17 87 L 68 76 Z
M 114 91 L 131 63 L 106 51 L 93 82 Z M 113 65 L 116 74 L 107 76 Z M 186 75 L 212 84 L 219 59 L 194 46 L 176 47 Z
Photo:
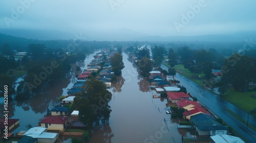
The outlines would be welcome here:
M 63 131 L 67 127 L 68 117 L 63 116 L 48 116 L 39 122 L 41 127 L 47 128 L 47 130 L 59 130 Z

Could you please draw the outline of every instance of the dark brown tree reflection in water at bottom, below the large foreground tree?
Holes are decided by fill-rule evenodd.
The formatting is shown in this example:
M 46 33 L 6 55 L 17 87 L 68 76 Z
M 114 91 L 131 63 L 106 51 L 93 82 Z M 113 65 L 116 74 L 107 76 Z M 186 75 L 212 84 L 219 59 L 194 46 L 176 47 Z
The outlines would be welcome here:
M 96 130 L 93 131 L 93 136 L 91 140 L 93 140 L 93 142 L 111 143 L 111 139 L 113 136 L 114 133 L 112 132 L 110 125 L 106 124 L 104 126 L 98 127 Z

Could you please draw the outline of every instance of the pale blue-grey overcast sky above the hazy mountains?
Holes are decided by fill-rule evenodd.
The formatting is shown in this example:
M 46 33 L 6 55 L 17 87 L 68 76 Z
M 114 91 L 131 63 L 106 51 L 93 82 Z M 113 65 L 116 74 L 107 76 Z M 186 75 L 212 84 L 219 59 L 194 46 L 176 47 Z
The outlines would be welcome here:
M 125 28 L 158 36 L 223 34 L 256 30 L 255 6 L 253 0 L 0 0 L 0 28 L 73 33 Z

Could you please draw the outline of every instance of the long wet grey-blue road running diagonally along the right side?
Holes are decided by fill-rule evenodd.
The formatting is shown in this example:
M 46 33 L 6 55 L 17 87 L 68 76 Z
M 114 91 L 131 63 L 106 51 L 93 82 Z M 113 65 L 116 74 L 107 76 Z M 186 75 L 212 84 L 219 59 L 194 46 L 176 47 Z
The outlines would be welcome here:
M 161 67 L 165 70 L 168 68 L 164 65 Z M 168 71 L 168 70 L 167 70 Z M 241 118 L 244 118 L 244 111 L 233 104 L 223 100 L 216 94 L 208 91 L 204 87 L 200 86 L 199 84 L 195 83 L 194 81 L 189 80 L 188 78 L 176 74 L 176 80 L 180 81 L 180 84 L 186 87 L 187 91 L 190 92 L 194 97 L 196 97 L 202 104 L 204 104 L 207 108 L 209 108 L 212 112 L 214 112 L 217 116 L 222 118 L 222 120 L 227 123 L 228 126 L 232 127 L 233 130 L 238 132 L 241 136 L 246 138 L 249 142 L 255 142 L 256 140 L 256 132 L 254 132 L 247 125 L 239 121 L 236 117 L 231 115 L 225 109 L 229 109 L 233 113 L 236 113 Z M 247 122 L 248 114 L 245 113 L 245 121 Z M 249 115 L 249 124 L 253 127 L 256 127 L 256 119 Z

